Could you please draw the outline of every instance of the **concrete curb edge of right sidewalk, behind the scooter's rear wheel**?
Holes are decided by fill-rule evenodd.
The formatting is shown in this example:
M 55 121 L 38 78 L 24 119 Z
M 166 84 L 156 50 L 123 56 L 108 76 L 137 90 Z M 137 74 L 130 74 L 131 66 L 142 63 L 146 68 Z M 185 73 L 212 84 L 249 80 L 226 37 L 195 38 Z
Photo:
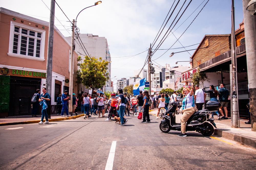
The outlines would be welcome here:
M 240 143 L 241 145 L 245 145 L 245 146 L 252 147 L 252 148 L 256 149 L 256 138 L 229 132 L 229 131 L 226 131 L 225 129 L 214 129 L 214 134 L 224 137 L 226 139 L 236 141 L 236 142 Z

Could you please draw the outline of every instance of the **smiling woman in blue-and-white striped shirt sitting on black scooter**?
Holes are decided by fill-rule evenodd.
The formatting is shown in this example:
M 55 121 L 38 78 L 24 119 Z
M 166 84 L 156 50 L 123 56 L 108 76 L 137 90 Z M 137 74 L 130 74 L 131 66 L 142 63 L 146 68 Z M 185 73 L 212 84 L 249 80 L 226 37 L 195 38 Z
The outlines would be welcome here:
M 195 99 L 194 99 L 194 87 L 191 87 L 191 91 L 189 88 L 184 88 L 182 91 L 182 94 L 185 95 L 183 101 L 182 101 L 182 117 L 180 118 L 180 124 L 181 124 L 181 133 L 177 136 L 186 137 L 186 122 L 189 119 L 191 115 L 193 115 L 196 112 L 195 107 Z

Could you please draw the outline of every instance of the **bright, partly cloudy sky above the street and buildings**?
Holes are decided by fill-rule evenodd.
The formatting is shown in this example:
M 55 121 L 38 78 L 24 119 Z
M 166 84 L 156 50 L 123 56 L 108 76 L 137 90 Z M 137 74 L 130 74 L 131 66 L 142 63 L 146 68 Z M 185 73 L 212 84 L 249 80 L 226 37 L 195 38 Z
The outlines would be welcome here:
M 67 17 L 56 4 L 55 26 L 64 36 L 71 36 L 69 20 L 76 19 L 83 8 L 94 5 L 96 1 L 56 0 Z M 0 2 L 0 7 L 49 22 L 50 0 L 0 0 Z M 207 34 L 231 33 L 231 0 L 193 0 L 190 4 L 190 0 L 180 0 L 173 11 L 177 2 L 178 0 L 102 0 L 101 4 L 87 8 L 79 14 L 77 27 L 81 34 L 89 33 L 107 39 L 112 60 L 111 78 L 114 77 L 112 79 L 114 84 L 116 79 L 133 77 L 134 70 L 144 66 L 150 44 L 153 51 L 151 58 L 153 66 L 165 66 L 165 64 L 170 64 L 171 67 L 190 66 L 189 62 L 178 64 L 175 62 L 189 61 L 194 50 L 177 52 L 196 49 Z M 243 21 L 242 0 L 234 0 L 234 8 L 235 29 L 238 29 L 239 23 Z M 178 14 L 180 9 L 182 10 Z M 165 18 L 169 11 L 168 17 L 172 11 L 173 14 L 166 23 Z M 176 16 L 178 17 L 175 18 Z M 159 35 L 163 23 L 166 26 Z M 168 34 L 169 27 L 173 34 Z M 168 36 L 164 36 L 165 33 Z M 159 38 L 155 41 L 158 35 Z M 163 41 L 160 42 L 162 38 Z M 169 48 L 170 50 L 163 50 Z M 169 57 L 172 52 L 176 54 Z M 147 69 L 147 65 L 144 68 Z

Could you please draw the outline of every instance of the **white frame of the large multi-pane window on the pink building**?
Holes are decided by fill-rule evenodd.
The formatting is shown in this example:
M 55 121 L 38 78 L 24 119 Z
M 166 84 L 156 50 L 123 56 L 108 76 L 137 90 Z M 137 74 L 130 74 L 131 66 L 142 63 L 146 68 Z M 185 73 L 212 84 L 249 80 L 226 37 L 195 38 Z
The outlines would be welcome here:
M 40 47 L 40 57 L 33 57 L 33 56 L 27 56 L 27 55 L 22 55 L 22 54 L 16 54 L 13 53 L 13 38 L 14 38 L 14 27 L 20 27 L 20 31 L 22 28 L 24 29 L 28 29 L 31 31 L 35 31 L 35 32 L 39 32 L 41 33 L 41 47 Z M 20 24 L 17 22 L 10 22 L 10 38 L 9 38 L 9 51 L 7 53 L 8 56 L 12 56 L 12 57 L 19 57 L 19 58 L 26 58 L 26 59 L 31 59 L 31 60 L 38 60 L 38 61 L 45 61 L 45 34 L 46 31 L 41 30 L 41 29 L 37 29 L 34 27 L 29 27 L 27 25 L 24 24 Z M 20 41 L 20 37 L 19 37 L 19 41 Z M 18 49 L 20 48 L 20 42 L 18 44 Z

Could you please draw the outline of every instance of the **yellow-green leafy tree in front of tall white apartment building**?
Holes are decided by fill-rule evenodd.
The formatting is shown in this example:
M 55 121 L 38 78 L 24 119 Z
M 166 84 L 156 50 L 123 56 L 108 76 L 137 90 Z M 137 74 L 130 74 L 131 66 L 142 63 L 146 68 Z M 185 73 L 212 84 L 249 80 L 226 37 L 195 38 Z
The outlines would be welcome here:
M 89 58 L 85 56 L 82 63 L 79 63 L 82 58 L 78 56 L 77 66 L 80 68 L 77 70 L 77 83 L 82 83 L 86 88 L 100 88 L 105 85 L 106 80 L 109 79 L 107 73 L 108 61 L 102 60 L 95 57 Z

